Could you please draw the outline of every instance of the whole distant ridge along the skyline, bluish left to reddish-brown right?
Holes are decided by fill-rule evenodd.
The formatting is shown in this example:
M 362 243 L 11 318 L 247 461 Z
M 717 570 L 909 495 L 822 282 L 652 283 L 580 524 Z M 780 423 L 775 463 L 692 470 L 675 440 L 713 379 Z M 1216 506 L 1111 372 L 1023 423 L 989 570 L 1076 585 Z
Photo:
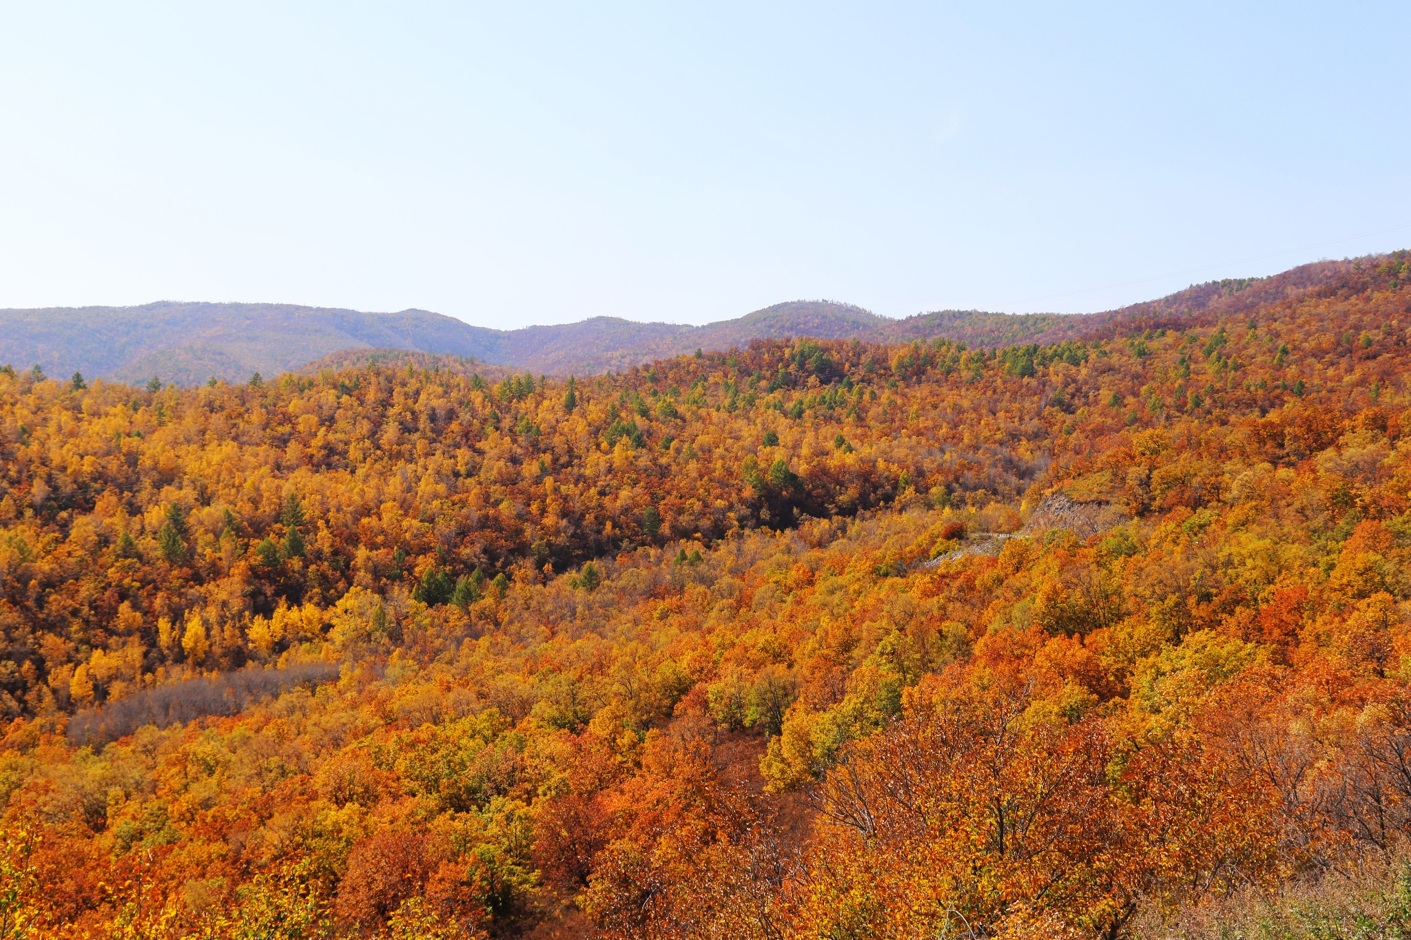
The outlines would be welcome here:
M 253 372 L 298 371 L 360 351 L 406 350 L 552 375 L 619 371 L 756 338 L 816 337 L 904 342 L 947 337 L 971 345 L 1058 342 L 1143 326 L 1171 326 L 1277 303 L 1331 283 L 1357 261 L 1324 261 L 1259 279 L 1194 285 L 1158 300 L 1091 314 L 941 310 L 903 320 L 831 300 L 794 300 L 706 326 L 593 317 L 519 330 L 476 327 L 429 310 L 363 313 L 277 303 L 159 302 L 137 307 L 0 310 L 0 362 L 49 375 L 178 385 Z

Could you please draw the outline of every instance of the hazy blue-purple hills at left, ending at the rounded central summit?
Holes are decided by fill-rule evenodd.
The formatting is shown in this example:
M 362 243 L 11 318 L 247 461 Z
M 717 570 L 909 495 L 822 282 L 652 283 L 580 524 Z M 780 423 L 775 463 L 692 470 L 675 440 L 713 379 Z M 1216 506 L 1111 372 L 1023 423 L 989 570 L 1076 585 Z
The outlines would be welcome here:
M 402 348 L 536 373 L 597 373 L 755 338 L 879 334 L 893 321 L 847 304 L 794 302 L 704 327 L 594 317 L 487 330 L 426 310 L 361 313 L 262 303 L 150 303 L 140 307 L 0 310 L 0 364 L 119 382 L 272 376 L 357 351 Z M 341 355 L 339 355 L 341 354 Z

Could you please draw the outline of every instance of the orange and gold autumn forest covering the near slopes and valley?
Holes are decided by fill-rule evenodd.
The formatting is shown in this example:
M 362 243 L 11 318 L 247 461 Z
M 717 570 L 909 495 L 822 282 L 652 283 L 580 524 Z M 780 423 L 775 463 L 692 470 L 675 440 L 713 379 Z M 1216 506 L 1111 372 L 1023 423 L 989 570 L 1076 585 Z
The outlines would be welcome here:
M 1411 936 L 1408 279 L 4 366 L 0 939 Z

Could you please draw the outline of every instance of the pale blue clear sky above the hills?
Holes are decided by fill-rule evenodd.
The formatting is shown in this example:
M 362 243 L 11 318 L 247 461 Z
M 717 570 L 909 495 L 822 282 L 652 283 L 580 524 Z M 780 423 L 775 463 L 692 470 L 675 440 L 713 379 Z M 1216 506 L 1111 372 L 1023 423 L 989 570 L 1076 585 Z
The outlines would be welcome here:
M 4 1 L 0 307 L 1106 309 L 1411 245 L 1408 37 L 1404 0 Z

